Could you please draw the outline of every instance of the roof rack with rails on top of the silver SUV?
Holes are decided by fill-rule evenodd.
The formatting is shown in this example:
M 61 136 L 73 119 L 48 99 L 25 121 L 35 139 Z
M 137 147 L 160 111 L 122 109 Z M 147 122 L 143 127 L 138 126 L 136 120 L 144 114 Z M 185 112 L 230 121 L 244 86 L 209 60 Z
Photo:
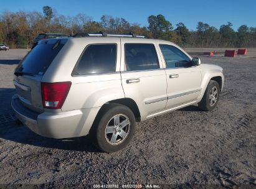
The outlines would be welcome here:
M 138 38 L 145 38 L 144 35 L 136 35 L 133 32 L 129 34 L 107 34 L 106 32 L 98 32 L 98 33 L 78 33 L 73 35 L 73 37 L 138 37 Z

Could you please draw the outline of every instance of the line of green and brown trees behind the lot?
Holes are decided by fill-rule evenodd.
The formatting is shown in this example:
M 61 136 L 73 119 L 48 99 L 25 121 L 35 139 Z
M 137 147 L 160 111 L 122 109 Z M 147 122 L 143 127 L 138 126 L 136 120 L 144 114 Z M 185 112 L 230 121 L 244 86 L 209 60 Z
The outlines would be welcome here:
M 241 25 L 235 31 L 231 22 L 221 25 L 219 29 L 198 22 L 196 30 L 189 30 L 183 22 L 174 26 L 159 14 L 149 16 L 148 27 L 141 27 L 123 17 L 103 15 L 97 22 L 81 13 L 64 16 L 49 6 L 44 6 L 42 12 L 4 11 L 0 16 L 0 44 L 7 44 L 11 48 L 29 48 L 33 39 L 44 32 L 74 35 L 99 31 L 113 34 L 133 32 L 149 38 L 169 40 L 181 47 L 256 47 L 256 27 Z

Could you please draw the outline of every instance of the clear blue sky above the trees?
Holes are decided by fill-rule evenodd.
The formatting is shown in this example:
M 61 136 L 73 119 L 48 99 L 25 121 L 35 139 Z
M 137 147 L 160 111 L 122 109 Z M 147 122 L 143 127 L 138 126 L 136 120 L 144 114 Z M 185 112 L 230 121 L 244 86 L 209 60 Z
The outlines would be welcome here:
M 183 22 L 189 30 L 196 30 L 197 22 L 201 21 L 219 29 L 220 25 L 232 22 L 233 29 L 240 25 L 256 27 L 255 0 L 183 0 L 183 1 L 122 1 L 122 0 L 5 0 L 0 2 L 0 14 L 3 11 L 40 11 L 43 6 L 50 6 L 58 14 L 75 16 L 78 13 L 91 16 L 100 21 L 102 15 L 123 17 L 130 23 L 148 26 L 148 16 L 162 14 L 176 27 Z

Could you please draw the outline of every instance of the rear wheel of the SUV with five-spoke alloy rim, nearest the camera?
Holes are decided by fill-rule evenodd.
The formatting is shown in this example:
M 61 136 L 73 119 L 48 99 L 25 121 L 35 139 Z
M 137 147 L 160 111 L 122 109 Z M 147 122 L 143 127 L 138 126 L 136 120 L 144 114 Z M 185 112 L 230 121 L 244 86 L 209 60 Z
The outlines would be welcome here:
M 134 133 L 135 116 L 131 109 L 113 103 L 101 109 L 89 135 L 98 149 L 110 153 L 123 149 Z

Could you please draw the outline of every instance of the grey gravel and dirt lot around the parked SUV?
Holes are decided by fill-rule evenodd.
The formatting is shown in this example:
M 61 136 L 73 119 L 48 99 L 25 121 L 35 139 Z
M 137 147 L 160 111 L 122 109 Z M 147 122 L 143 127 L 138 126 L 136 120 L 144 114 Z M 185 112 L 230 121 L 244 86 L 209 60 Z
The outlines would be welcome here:
M 255 50 L 245 57 L 201 57 L 224 68 L 217 108 L 189 106 L 138 123 L 131 144 L 113 154 L 98 152 L 88 137 L 47 139 L 15 124 L 12 73 L 26 52 L 0 52 L 0 184 L 256 187 Z

